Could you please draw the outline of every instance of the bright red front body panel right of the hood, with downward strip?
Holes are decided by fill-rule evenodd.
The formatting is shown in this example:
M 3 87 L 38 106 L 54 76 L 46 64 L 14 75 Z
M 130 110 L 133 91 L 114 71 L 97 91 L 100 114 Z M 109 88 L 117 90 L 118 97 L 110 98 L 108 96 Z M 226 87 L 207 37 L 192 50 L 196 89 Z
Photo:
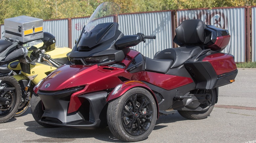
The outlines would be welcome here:
M 108 66 L 99 66 L 94 70 L 83 72 L 77 80 L 73 81 L 66 88 L 72 88 L 84 85 L 85 88 L 81 92 L 76 92 L 71 95 L 68 113 L 77 111 L 81 105 L 78 95 L 90 92 L 102 91 L 106 89 L 113 89 L 121 80 L 118 76 L 123 76 L 130 79 L 131 74 L 124 71 L 124 69 L 112 68 Z

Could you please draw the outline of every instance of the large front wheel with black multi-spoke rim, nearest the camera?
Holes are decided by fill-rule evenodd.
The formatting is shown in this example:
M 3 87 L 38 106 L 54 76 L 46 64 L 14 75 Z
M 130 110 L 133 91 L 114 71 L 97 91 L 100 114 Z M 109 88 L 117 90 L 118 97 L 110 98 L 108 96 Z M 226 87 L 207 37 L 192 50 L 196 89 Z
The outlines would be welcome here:
M 136 105 L 135 104 L 131 105 L 132 103 L 136 103 Z M 146 106 L 142 107 L 141 109 L 139 105 L 142 104 L 144 106 L 145 103 L 146 103 Z M 136 106 L 136 108 L 134 108 L 134 105 Z M 128 110 L 126 107 L 129 107 L 129 113 L 127 112 Z M 126 116 L 128 114 L 129 116 Z M 156 120 L 157 120 L 157 106 L 156 106 L 155 100 L 153 96 L 150 94 L 150 92 L 144 88 L 140 88 L 140 87 L 132 88 L 127 92 L 125 92 L 119 98 L 116 98 L 110 101 L 108 104 L 108 109 L 107 109 L 108 126 L 111 133 L 117 138 L 119 138 L 120 140 L 123 140 L 126 142 L 135 142 L 135 141 L 144 140 L 153 131 L 154 126 L 156 124 Z M 125 124 L 127 127 L 124 127 Z M 136 127 L 136 125 L 138 124 L 140 124 L 139 128 L 138 126 Z M 127 130 L 128 128 L 130 128 L 128 126 L 131 127 L 131 129 L 129 129 L 130 132 Z M 139 132 L 137 132 L 138 130 Z M 139 135 L 132 135 L 132 134 L 138 134 L 138 133 Z

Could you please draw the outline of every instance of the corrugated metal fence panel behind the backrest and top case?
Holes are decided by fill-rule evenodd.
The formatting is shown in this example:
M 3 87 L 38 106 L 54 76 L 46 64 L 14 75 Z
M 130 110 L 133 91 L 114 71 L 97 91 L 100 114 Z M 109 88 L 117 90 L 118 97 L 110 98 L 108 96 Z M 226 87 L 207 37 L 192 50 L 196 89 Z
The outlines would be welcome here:
M 245 62 L 245 8 L 178 10 L 177 25 L 186 19 L 201 19 L 205 24 L 227 29 L 232 35 L 223 52 L 228 53 L 230 47 L 230 54 L 235 56 L 235 61 Z

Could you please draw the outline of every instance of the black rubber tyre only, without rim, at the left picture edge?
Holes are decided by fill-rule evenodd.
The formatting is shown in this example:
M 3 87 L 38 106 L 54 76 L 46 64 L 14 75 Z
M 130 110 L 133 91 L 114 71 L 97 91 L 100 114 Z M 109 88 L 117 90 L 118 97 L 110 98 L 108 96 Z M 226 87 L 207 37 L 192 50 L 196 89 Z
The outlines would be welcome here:
M 18 81 L 12 76 L 1 76 L 0 80 L 1 83 L 5 83 L 8 87 L 15 87 L 15 89 L 11 91 L 13 93 L 11 109 L 6 111 L 0 111 L 0 123 L 4 123 L 10 120 L 16 114 L 20 105 L 22 93 Z

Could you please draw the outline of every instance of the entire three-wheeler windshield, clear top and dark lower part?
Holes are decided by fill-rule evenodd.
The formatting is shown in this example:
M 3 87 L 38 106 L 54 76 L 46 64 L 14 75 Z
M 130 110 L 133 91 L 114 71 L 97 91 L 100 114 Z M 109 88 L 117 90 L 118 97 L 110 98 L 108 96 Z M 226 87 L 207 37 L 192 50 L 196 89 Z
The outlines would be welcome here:
M 83 28 L 77 46 L 82 49 L 93 48 L 114 37 L 120 6 L 114 2 L 100 4 Z M 95 41 L 95 43 L 94 43 Z

